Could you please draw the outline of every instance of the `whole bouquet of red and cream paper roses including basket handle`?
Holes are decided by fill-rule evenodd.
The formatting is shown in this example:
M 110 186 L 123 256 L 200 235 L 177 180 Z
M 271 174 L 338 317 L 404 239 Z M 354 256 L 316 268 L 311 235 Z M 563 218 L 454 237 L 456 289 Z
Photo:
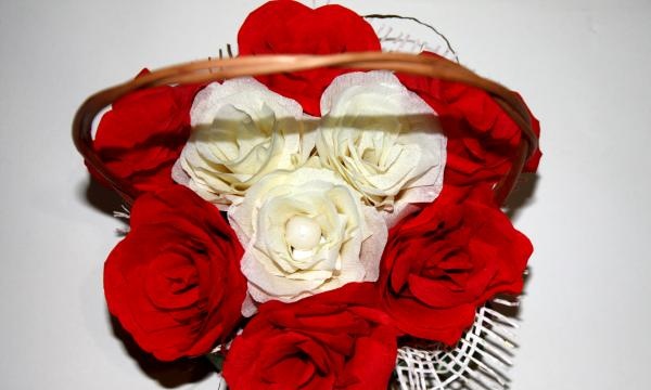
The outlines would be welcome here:
M 532 245 L 500 204 L 537 166 L 537 121 L 454 62 L 382 53 L 340 5 L 268 2 L 238 48 L 76 117 L 91 173 L 130 206 L 110 312 L 162 361 L 221 355 L 234 390 L 443 389 L 405 353 L 451 351 L 521 292 Z

